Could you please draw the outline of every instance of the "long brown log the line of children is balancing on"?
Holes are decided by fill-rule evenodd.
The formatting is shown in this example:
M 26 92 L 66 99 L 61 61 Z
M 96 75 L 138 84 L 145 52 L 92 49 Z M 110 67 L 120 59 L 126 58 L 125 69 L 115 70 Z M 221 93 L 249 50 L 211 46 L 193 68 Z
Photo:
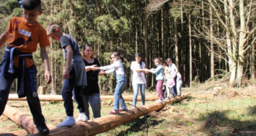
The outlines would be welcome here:
M 164 102 L 154 102 L 146 106 L 138 106 L 139 110 L 132 109 L 128 112 L 121 112 L 120 114 L 110 114 L 101 118 L 95 118 L 94 121 L 79 122 L 73 127 L 60 127 L 50 131 L 48 135 L 51 136 L 79 136 L 79 135 L 96 135 L 110 129 L 114 129 L 120 125 L 133 121 L 139 116 L 146 115 L 150 112 L 160 110 L 166 104 L 172 104 L 189 96 L 185 94 L 177 98 L 171 98 L 171 100 L 164 100 Z M 39 134 L 35 134 L 39 136 Z

